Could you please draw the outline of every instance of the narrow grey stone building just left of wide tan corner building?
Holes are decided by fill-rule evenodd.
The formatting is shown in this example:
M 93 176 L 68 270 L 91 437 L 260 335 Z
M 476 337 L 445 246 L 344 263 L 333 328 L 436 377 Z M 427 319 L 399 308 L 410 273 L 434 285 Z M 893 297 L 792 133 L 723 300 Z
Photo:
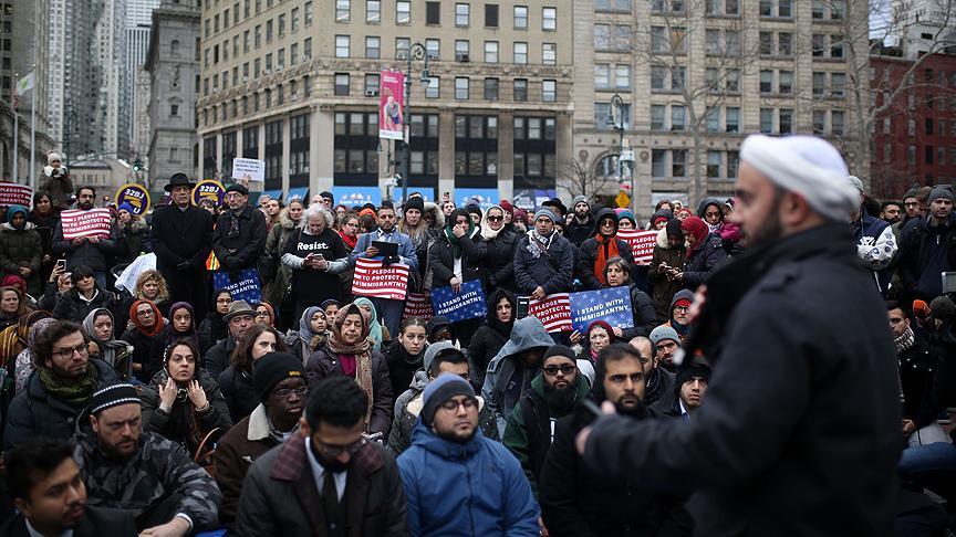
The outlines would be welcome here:
M 148 146 L 150 188 L 174 173 L 196 167 L 196 92 L 199 63 L 199 9 L 193 3 L 163 0 L 153 11 L 149 51 Z

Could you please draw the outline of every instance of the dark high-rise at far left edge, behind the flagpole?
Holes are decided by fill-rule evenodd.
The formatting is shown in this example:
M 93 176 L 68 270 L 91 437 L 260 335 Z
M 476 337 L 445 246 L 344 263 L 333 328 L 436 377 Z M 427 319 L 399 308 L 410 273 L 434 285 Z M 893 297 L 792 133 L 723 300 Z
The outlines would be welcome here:
M 8 0 L 0 2 L 0 178 L 12 178 L 13 158 L 19 155 L 19 178 L 25 181 L 30 173 L 30 120 L 35 106 L 37 146 L 35 173 L 46 165 L 50 138 L 48 114 L 49 70 L 48 41 L 37 39 L 49 32 L 49 0 Z M 19 151 L 14 151 L 14 116 L 11 108 L 13 85 L 33 72 L 33 90 L 18 99 Z

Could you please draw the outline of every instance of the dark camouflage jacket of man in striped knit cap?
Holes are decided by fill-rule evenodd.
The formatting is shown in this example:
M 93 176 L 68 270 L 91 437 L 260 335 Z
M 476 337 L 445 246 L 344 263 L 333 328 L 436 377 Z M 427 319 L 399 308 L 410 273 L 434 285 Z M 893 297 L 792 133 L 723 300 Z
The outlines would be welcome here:
M 86 502 L 96 507 L 123 508 L 134 515 L 148 512 L 169 497 L 181 497 L 178 513 L 193 519 L 193 529 L 215 529 L 222 494 L 212 477 L 194 463 L 183 448 L 143 431 L 129 457 L 117 461 L 100 451 L 89 422 L 76 433 L 73 461 L 86 483 Z

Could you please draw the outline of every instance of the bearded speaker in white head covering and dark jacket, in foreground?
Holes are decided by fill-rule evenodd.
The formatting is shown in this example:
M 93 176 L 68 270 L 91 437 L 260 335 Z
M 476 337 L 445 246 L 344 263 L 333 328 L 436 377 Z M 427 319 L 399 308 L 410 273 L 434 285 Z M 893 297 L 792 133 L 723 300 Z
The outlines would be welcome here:
M 748 251 L 698 291 L 685 348 L 713 364 L 707 404 L 690 422 L 603 415 L 578 449 L 599 478 L 693 491 L 695 535 L 889 535 L 901 410 L 885 307 L 846 225 L 859 193 L 820 138 L 749 136 L 740 159 Z

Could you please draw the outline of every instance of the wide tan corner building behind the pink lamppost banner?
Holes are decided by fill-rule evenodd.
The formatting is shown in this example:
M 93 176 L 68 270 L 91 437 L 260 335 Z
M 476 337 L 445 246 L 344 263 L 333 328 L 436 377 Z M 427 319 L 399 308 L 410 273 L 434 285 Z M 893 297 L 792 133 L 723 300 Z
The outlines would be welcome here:
M 575 4 L 579 2 L 574 2 Z M 572 155 L 572 2 L 202 2 L 202 178 L 266 161 L 264 189 L 375 200 L 402 166 L 380 140 L 380 71 L 412 62 L 409 189 L 551 194 Z

